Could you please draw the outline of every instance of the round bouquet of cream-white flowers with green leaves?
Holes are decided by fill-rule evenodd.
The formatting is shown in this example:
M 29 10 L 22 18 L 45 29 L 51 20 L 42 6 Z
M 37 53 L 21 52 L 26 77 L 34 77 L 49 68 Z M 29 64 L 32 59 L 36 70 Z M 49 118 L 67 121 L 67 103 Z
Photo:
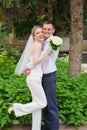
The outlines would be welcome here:
M 60 47 L 60 45 L 63 43 L 63 40 L 62 38 L 58 36 L 52 36 L 49 43 L 52 50 L 56 51 Z

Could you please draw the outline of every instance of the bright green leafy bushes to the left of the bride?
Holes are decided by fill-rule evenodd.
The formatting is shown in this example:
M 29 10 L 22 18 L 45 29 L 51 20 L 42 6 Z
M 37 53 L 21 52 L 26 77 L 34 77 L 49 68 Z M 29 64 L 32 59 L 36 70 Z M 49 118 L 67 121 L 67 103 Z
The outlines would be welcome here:
M 17 61 L 16 61 L 17 62 Z M 31 95 L 26 85 L 25 76 L 16 76 L 15 59 L 8 57 L 7 52 L 0 54 L 0 127 L 7 124 L 13 124 L 16 119 L 14 113 L 8 114 L 9 103 L 28 103 L 31 101 Z M 29 123 L 31 115 L 17 119 L 21 124 Z

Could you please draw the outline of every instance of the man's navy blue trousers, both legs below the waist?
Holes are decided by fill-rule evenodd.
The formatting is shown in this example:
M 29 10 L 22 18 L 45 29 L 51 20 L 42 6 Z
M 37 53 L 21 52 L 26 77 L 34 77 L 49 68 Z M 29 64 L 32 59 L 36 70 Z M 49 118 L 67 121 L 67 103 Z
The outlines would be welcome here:
M 42 85 L 47 98 L 47 107 L 44 109 L 44 130 L 58 130 L 58 104 L 56 97 L 56 74 L 43 76 Z M 46 128 L 46 129 L 45 129 Z

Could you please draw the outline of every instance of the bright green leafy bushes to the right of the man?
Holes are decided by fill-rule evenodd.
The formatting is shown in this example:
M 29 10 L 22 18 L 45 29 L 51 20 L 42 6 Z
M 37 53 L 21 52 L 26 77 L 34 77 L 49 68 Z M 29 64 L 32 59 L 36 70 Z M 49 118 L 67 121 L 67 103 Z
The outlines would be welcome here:
M 60 118 L 67 125 L 87 122 L 87 73 L 79 77 L 67 74 L 68 62 L 57 61 L 57 97 Z

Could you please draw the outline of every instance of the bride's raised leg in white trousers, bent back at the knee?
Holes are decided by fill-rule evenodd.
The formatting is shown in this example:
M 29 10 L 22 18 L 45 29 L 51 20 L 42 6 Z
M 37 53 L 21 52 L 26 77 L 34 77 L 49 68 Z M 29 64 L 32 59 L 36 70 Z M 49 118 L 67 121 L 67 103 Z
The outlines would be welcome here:
M 27 78 L 27 85 L 31 91 L 33 101 L 27 104 L 14 103 L 13 107 L 16 117 L 30 114 L 47 105 L 46 96 L 41 85 L 41 79 L 29 77 L 29 79 Z

